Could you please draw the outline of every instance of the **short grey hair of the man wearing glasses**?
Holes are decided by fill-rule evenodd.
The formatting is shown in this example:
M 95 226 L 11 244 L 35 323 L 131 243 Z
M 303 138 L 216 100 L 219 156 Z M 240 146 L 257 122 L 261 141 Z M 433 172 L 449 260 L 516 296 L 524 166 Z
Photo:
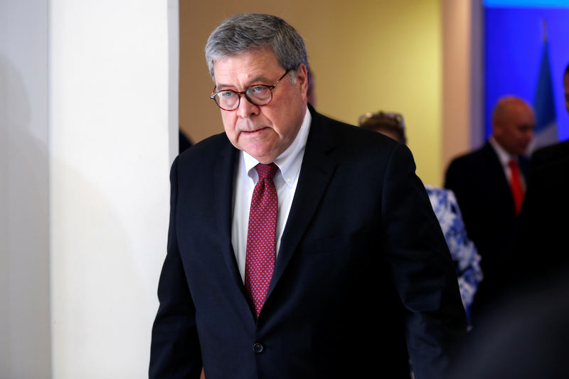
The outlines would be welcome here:
M 208 38 L 206 62 L 211 78 L 216 80 L 213 63 L 219 58 L 267 46 L 285 70 L 295 70 L 301 63 L 308 70 L 304 41 L 285 20 L 270 14 L 238 14 L 226 18 Z

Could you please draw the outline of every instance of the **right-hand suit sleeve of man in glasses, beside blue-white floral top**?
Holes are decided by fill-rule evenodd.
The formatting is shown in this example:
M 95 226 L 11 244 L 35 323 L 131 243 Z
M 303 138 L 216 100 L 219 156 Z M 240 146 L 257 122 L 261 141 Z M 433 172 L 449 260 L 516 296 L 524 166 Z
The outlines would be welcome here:
M 390 154 L 383 186 L 384 250 L 407 310 L 407 344 L 415 378 L 441 378 L 466 333 L 457 274 L 409 149 Z

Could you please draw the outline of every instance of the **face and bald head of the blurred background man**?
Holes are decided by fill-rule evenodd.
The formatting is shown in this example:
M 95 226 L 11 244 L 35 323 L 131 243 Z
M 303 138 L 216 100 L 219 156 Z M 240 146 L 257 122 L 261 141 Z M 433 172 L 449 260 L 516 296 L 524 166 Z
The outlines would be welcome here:
M 530 107 L 521 102 L 509 105 L 504 117 L 494 125 L 494 138 L 509 154 L 526 154 L 535 124 Z

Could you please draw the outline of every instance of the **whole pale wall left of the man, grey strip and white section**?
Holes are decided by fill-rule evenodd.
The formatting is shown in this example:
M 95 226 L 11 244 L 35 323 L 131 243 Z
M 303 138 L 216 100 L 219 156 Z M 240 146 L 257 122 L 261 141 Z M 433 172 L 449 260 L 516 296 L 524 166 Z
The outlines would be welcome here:
M 0 1 L 0 378 L 144 378 L 176 0 Z

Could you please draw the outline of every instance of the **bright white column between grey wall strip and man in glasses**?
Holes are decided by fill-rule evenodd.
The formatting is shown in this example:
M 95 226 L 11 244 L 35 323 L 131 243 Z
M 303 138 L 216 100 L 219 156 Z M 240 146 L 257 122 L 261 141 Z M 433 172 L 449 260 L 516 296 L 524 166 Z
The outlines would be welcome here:
M 50 1 L 53 378 L 147 376 L 177 149 L 177 9 Z

